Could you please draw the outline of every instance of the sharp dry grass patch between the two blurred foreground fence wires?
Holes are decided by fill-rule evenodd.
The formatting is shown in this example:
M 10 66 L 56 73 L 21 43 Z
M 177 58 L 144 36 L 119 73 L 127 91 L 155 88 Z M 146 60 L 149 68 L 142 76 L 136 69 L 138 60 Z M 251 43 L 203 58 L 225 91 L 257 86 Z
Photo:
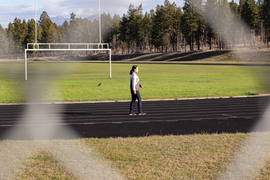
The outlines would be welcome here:
M 113 161 L 129 179 L 218 179 L 250 135 L 237 133 L 90 138 L 85 139 L 85 142 Z M 249 179 L 268 177 L 269 167 L 260 169 L 258 174 L 259 177 Z

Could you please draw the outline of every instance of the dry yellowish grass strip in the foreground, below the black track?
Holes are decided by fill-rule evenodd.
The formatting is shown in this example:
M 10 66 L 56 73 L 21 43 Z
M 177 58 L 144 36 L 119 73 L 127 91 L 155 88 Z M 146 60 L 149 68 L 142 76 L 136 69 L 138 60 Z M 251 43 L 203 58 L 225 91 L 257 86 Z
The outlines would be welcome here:
M 1 179 L 3 177 L 7 179 L 97 179 L 91 176 L 94 174 L 91 171 L 93 169 L 85 169 L 86 167 L 82 166 L 86 161 L 89 166 L 92 164 L 97 166 L 97 162 L 103 162 L 105 170 L 106 168 L 108 171 L 113 169 L 117 172 L 116 174 L 120 174 L 113 176 L 113 179 L 219 179 L 228 168 L 229 162 L 234 161 L 236 155 L 243 153 L 241 145 L 248 138 L 256 135 L 270 138 L 270 133 L 264 132 L 86 138 L 69 141 L 5 140 L 0 141 L 1 164 L 4 159 L 12 163 L 12 158 L 16 161 L 20 159 L 22 163 L 14 171 L 11 170 L 15 165 L 9 164 L 10 167 L 6 167 L 9 171 L 1 171 L 0 177 Z M 270 145 L 270 141 L 261 143 L 268 147 Z M 24 150 L 24 157 L 19 152 L 14 154 L 15 150 L 8 147 Z M 58 148 L 60 150 L 56 150 Z M 71 154 L 70 149 L 83 152 L 86 155 L 84 160 L 72 158 L 74 155 Z M 8 157 L 4 157 L 5 154 Z M 270 178 L 269 155 L 268 150 L 266 161 L 260 164 L 259 169 L 255 169 L 253 176 L 247 176 L 246 179 Z M 94 158 L 92 160 L 94 163 L 91 164 L 93 156 L 97 158 Z M 88 157 L 91 157 L 90 160 Z M 17 164 L 20 163 L 17 162 Z M 70 168 L 72 164 L 75 164 L 76 168 Z M 227 179 L 238 178 L 228 177 Z

